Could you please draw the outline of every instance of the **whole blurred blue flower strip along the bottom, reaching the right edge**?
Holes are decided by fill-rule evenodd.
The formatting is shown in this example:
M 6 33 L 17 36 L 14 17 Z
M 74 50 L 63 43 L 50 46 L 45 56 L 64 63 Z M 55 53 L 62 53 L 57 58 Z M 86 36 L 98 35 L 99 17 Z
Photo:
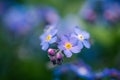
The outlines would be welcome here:
M 69 76 L 72 72 L 75 76 Z M 101 71 L 93 71 L 92 68 L 85 64 L 82 60 L 68 63 L 54 69 L 54 79 L 61 80 L 61 76 L 66 74 L 66 77 L 76 80 L 76 78 L 84 80 L 120 80 L 120 71 L 117 69 L 105 68 Z

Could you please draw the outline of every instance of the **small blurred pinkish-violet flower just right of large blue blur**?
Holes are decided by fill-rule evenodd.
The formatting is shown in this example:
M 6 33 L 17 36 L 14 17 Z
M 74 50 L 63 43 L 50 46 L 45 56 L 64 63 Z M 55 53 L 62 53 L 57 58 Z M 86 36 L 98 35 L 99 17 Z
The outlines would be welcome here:
M 43 6 L 38 8 L 39 15 L 43 19 L 43 22 L 47 25 L 55 25 L 60 20 L 60 16 L 52 7 Z

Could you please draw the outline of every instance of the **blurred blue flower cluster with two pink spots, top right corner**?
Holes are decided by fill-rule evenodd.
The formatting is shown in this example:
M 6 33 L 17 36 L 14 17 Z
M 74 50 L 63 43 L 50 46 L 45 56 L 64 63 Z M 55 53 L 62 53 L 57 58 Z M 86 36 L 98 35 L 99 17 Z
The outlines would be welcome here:
M 90 23 L 114 24 L 120 20 L 119 8 L 119 1 L 88 0 L 80 10 L 80 16 Z

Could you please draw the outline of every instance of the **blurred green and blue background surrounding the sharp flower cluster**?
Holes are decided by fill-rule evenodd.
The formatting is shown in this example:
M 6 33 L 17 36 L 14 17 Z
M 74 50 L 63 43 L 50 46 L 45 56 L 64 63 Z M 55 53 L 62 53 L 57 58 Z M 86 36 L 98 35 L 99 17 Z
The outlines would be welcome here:
M 46 25 L 59 22 L 89 32 L 91 48 L 53 66 L 39 36 Z M 95 80 L 76 78 L 68 65 L 75 63 L 89 65 L 91 74 L 120 71 L 120 0 L 0 0 L 0 80 Z M 71 69 L 74 75 L 66 76 Z

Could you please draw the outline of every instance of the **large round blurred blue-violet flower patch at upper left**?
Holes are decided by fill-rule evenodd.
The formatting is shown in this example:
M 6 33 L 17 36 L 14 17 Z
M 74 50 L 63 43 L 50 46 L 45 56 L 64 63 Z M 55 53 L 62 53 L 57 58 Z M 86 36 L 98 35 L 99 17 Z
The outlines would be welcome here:
M 10 8 L 3 17 L 4 25 L 17 34 L 26 34 L 38 25 L 39 21 L 36 8 L 24 5 Z

